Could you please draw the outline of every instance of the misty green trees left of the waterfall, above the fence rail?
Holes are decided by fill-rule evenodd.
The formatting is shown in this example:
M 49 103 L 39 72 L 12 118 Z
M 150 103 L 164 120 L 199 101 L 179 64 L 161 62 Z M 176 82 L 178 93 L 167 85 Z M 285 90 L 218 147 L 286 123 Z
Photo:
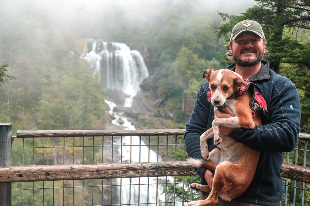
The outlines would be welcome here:
M 20 49 L 14 54 L 19 57 L 11 61 L 9 71 L 17 81 L 4 83 L 0 90 L 0 117 L 14 125 L 13 134 L 17 129 L 101 128 L 105 107 L 98 78 L 87 69 L 87 62 L 69 57 L 70 49 L 82 51 L 82 40 L 50 28 L 45 36 L 47 48 L 40 38 L 42 31 L 35 30 L 37 38 L 29 36 L 33 40 L 31 47 L 41 55 L 31 56 L 29 31 L 21 29 L 26 35 L 18 41 Z

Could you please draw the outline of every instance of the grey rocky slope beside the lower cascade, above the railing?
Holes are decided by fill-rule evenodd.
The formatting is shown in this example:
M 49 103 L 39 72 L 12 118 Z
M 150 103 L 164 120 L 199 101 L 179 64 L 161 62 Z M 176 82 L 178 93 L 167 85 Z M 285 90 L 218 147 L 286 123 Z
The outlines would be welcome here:
M 154 75 L 145 78 L 140 84 L 141 90 L 134 97 L 131 108 L 123 106 L 126 94 L 122 91 L 107 90 L 106 96 L 117 104 L 113 112 L 126 116 L 136 129 L 175 128 L 177 124 L 173 122 L 175 114 L 167 103 L 167 96 L 158 93 L 159 86 Z M 187 115 L 190 115 L 193 109 L 190 102 L 193 104 L 194 100 L 187 102 L 185 106 Z M 112 121 L 112 117 L 108 119 Z

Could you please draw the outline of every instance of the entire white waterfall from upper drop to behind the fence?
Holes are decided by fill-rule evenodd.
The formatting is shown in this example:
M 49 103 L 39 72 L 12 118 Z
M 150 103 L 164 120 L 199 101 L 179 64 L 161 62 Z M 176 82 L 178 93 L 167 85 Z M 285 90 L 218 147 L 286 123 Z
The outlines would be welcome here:
M 130 50 L 130 48 L 123 43 L 102 41 L 94 41 L 92 44 L 86 42 L 86 49 L 88 51 L 82 58 L 92 63 L 91 70 L 99 75 L 101 86 L 104 89 L 121 90 L 123 93 L 130 95 L 125 99 L 124 106 L 131 107 L 133 97 L 140 90 L 139 85 L 144 78 L 148 77 L 148 70 L 139 51 Z M 113 112 L 113 108 L 116 107 L 115 103 L 107 99 L 104 99 L 104 101 L 110 108 L 107 112 L 116 118 L 112 120 L 112 124 L 120 125 L 118 119 L 121 118 L 123 120 L 122 126 L 126 127 L 126 129 L 135 129 L 135 126 L 133 126 L 126 117 L 122 116 L 122 113 Z M 157 152 L 149 149 L 149 146 L 146 145 L 143 140 L 140 141 L 138 136 L 123 136 L 122 143 L 122 162 L 157 162 Z M 120 142 L 118 144 L 121 145 Z M 139 149 L 131 149 L 131 147 L 126 145 L 141 146 L 139 146 Z M 117 152 L 121 154 L 120 149 Z M 144 155 L 140 157 L 140 153 Z M 160 155 L 158 155 L 158 161 L 162 161 Z M 162 185 L 154 184 L 156 180 L 156 177 L 139 179 L 123 178 L 122 182 L 118 182 L 121 184 L 121 190 L 118 192 L 121 194 L 121 204 L 132 204 L 132 201 L 138 200 L 138 198 L 143 202 L 165 200 L 164 193 L 157 194 L 154 192 L 157 189 L 158 191 L 164 190 Z M 137 186 L 139 183 L 142 184 L 141 187 L 148 185 L 148 189 L 140 189 L 140 194 Z M 128 186 L 130 184 L 135 185 L 131 190 L 129 190 Z M 149 193 L 147 192 L 148 190 L 150 191 Z M 131 197 L 131 199 L 129 197 Z

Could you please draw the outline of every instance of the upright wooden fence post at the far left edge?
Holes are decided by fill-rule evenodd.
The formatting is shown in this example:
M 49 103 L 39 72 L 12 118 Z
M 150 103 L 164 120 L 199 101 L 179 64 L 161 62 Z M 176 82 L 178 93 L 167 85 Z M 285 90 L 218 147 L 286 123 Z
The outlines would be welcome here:
M 12 124 L 0 123 L 0 166 L 12 165 Z M 12 205 L 11 183 L 0 183 L 0 205 Z

